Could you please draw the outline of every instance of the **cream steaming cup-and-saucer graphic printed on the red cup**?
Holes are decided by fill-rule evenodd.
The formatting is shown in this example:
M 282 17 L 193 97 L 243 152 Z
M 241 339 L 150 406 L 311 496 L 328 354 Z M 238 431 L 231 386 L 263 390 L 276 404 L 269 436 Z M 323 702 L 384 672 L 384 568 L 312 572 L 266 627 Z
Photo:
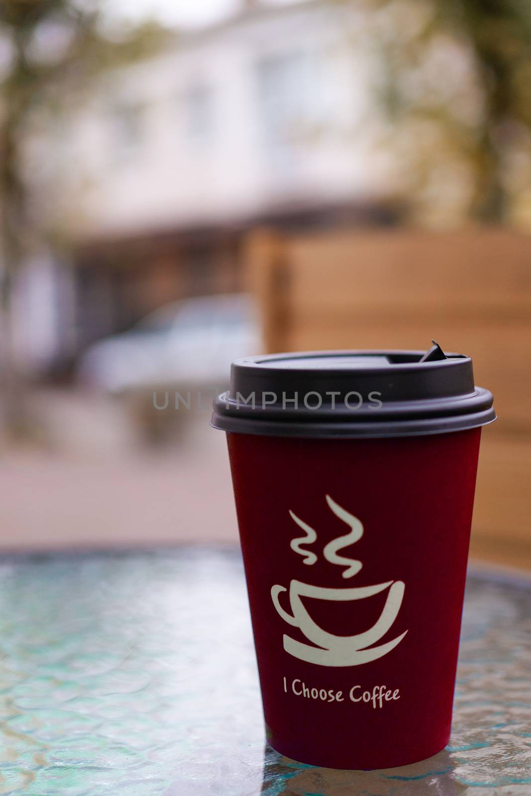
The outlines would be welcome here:
M 346 509 L 343 509 L 338 503 L 333 501 L 330 495 L 326 495 L 326 502 L 334 514 L 350 526 L 351 531 L 345 536 L 337 537 L 329 542 L 329 544 L 326 544 L 323 554 L 330 563 L 346 566 L 347 568 L 342 573 L 342 576 L 344 578 L 349 578 L 360 571 L 362 564 L 360 561 L 338 556 L 338 550 L 361 539 L 363 535 L 363 525 L 361 525 L 357 517 L 354 517 L 353 514 L 350 514 Z M 301 545 L 312 544 L 317 539 L 317 533 L 315 533 L 314 529 L 310 528 L 310 525 L 306 525 L 305 522 L 299 520 L 299 517 L 296 517 L 293 512 L 290 512 L 290 516 L 296 524 L 306 532 L 306 537 L 291 541 L 291 549 L 298 552 L 299 555 L 306 556 L 304 563 L 311 566 L 317 560 L 317 556 L 314 552 L 303 550 Z M 357 601 L 373 597 L 373 595 L 380 594 L 386 589 L 388 589 L 387 599 L 385 600 L 385 606 L 377 622 L 369 627 L 369 630 L 351 636 L 338 636 L 327 633 L 326 630 L 318 626 L 310 617 L 301 599 L 301 597 L 311 597 L 314 599 L 330 600 L 330 602 Z M 376 583 L 373 586 L 328 588 L 314 586 L 310 583 L 303 583 L 300 580 L 293 579 L 291 580 L 289 589 L 289 601 L 292 613 L 289 614 L 283 609 L 279 602 L 279 595 L 287 591 L 287 588 L 279 585 L 271 587 L 271 599 L 273 600 L 276 611 L 278 611 L 279 615 L 289 625 L 299 627 L 299 630 L 301 630 L 308 641 L 311 642 L 311 645 L 304 644 L 284 634 L 284 650 L 290 655 L 299 658 L 300 661 L 315 663 L 321 666 L 356 666 L 368 663 L 369 661 L 376 661 L 377 658 L 388 654 L 388 652 L 400 644 L 405 634 L 408 632 L 404 630 L 404 633 L 393 638 L 392 641 L 381 644 L 380 646 L 372 646 L 385 636 L 395 621 L 404 598 L 404 589 L 405 584 L 402 580 L 388 580 L 387 583 Z M 370 647 L 370 649 L 367 649 L 368 647 Z

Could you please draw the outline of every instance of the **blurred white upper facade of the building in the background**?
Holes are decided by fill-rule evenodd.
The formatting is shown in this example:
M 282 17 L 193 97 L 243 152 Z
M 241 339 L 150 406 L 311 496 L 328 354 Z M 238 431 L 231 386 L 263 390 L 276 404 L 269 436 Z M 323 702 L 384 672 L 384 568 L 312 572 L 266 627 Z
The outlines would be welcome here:
M 259 6 L 186 34 L 108 76 L 76 115 L 62 217 L 127 234 L 377 199 L 373 60 L 357 4 Z

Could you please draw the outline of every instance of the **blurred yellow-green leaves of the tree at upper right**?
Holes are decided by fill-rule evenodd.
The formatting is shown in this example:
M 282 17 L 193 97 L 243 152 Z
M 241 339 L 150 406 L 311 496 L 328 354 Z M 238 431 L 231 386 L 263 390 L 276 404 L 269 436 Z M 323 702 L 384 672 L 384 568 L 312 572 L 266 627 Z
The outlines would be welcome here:
M 400 7 L 404 14 L 408 10 L 403 29 Z M 395 15 L 395 29 L 382 39 L 381 100 L 389 123 L 395 129 L 409 125 L 411 130 L 429 130 L 436 141 L 430 150 L 412 136 L 408 154 L 416 188 L 422 192 L 446 153 L 472 175 L 474 192 L 466 212 L 482 220 L 510 219 L 514 191 L 529 193 L 525 180 L 514 174 L 513 162 L 530 170 L 531 3 L 375 0 L 373 10 Z M 408 25 L 412 18 L 415 24 Z M 422 70 L 442 38 L 458 45 L 469 60 L 474 96 L 467 98 L 464 87 L 444 96 L 444 72 L 435 88 L 412 96 L 412 74 Z M 477 111 L 467 114 L 467 105 L 470 110 L 474 102 Z

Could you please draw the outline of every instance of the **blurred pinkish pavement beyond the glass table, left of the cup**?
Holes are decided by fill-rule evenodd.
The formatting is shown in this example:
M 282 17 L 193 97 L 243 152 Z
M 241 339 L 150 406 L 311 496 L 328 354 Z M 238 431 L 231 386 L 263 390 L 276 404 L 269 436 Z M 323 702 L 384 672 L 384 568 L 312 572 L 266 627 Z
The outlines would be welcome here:
M 208 412 L 182 442 L 149 449 L 130 439 L 118 405 L 68 395 L 52 404 L 42 408 L 51 450 L 0 453 L 0 548 L 236 541 L 225 435 Z

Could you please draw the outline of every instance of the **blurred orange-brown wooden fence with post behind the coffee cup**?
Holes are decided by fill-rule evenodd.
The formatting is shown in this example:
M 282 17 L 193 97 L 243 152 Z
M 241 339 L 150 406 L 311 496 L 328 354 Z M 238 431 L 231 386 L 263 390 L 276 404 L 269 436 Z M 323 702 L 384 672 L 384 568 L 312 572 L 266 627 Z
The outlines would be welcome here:
M 472 552 L 531 568 L 531 236 L 502 229 L 253 232 L 248 283 L 270 352 L 427 349 L 474 360 L 494 392 Z

